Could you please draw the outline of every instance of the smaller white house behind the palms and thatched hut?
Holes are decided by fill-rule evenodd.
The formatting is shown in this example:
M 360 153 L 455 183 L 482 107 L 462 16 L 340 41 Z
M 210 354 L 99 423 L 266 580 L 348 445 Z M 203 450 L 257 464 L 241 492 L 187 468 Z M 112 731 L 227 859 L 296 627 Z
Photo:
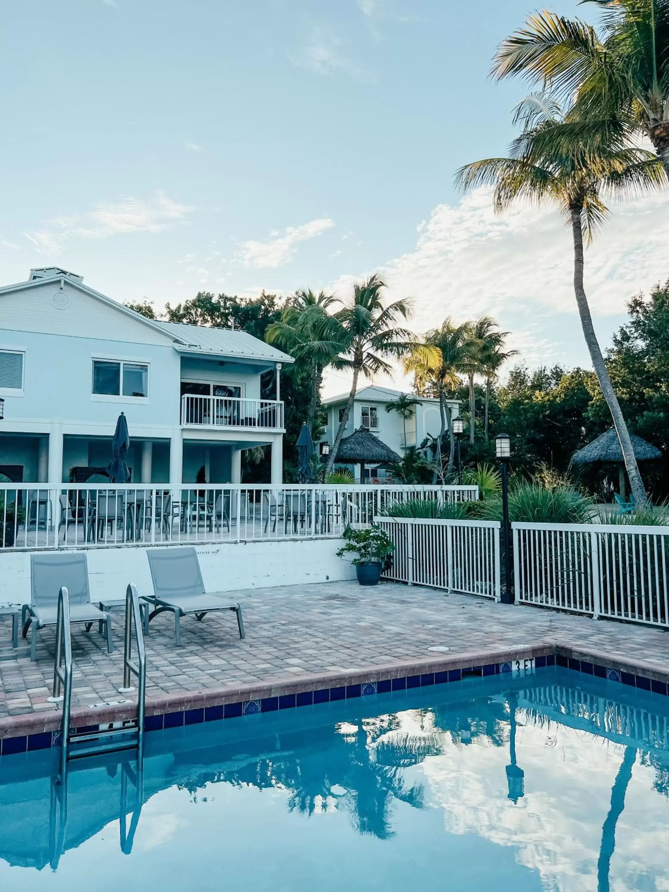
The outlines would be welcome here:
M 439 436 L 442 428 L 439 400 L 420 397 L 421 404 L 416 406 L 413 415 L 407 418 L 406 422 L 403 422 L 397 412 L 386 412 L 385 410 L 388 403 L 397 400 L 401 393 L 401 391 L 390 390 L 387 387 L 377 387 L 376 385 L 363 387 L 355 395 L 353 409 L 349 415 L 343 435 L 345 437 L 351 436 L 353 431 L 362 425 L 400 456 L 404 455 L 412 446 L 420 446 L 425 437 Z M 348 398 L 349 394 L 343 393 L 324 400 L 327 410 L 327 425 L 326 432 L 322 438 L 323 442 L 330 444 L 335 442 L 339 422 L 343 417 L 343 410 L 346 408 Z M 457 400 L 448 400 L 447 404 L 450 407 L 451 416 L 457 418 L 459 402 Z M 405 425 L 407 432 L 406 442 L 404 439 Z M 379 475 L 383 475 L 383 472 L 379 472 Z M 371 476 L 375 476 L 374 468 L 371 469 Z

